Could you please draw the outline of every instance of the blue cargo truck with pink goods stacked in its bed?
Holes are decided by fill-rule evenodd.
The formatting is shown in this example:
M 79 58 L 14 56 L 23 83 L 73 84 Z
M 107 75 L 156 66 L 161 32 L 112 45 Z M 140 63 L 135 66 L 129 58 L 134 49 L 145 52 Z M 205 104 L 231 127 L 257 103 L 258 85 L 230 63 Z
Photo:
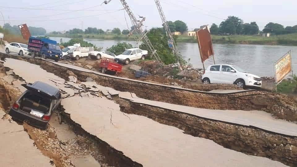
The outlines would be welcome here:
M 41 56 L 43 59 L 53 59 L 58 62 L 62 59 L 62 50 L 57 45 L 57 41 L 49 40 L 46 38 L 35 38 L 31 36 L 28 42 L 28 50 L 31 52 L 32 57 Z

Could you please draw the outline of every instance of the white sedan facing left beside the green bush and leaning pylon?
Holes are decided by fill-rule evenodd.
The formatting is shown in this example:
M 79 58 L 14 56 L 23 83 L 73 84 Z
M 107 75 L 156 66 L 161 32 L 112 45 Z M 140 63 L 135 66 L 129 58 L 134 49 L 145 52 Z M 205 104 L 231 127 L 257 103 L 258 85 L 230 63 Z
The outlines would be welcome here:
M 139 48 L 132 48 L 125 50 L 122 54 L 116 56 L 114 60 L 118 63 L 129 64 L 132 60 L 142 59 L 148 55 L 147 50 L 141 50 Z

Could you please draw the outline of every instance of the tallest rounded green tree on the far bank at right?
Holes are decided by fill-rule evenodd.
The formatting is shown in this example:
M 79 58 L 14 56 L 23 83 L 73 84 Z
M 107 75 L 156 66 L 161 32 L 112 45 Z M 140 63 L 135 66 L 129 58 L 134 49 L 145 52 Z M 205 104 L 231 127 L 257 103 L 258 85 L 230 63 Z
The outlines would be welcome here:
M 241 34 L 243 32 L 243 20 L 235 16 L 228 16 L 219 26 L 219 33 L 222 34 Z

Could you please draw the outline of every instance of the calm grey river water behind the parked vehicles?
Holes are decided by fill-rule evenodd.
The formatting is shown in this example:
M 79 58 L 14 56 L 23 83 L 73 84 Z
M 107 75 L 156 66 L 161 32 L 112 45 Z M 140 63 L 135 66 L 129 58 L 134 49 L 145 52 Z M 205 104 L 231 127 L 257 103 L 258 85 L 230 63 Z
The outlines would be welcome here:
M 60 37 L 50 37 L 57 42 Z M 62 38 L 64 42 L 70 38 Z M 98 40 L 85 39 L 97 47 L 106 49 L 116 45 L 120 40 Z M 136 46 L 136 41 L 125 41 Z M 201 63 L 198 44 L 196 43 L 178 43 L 178 50 L 195 68 L 203 68 Z M 249 73 L 259 76 L 274 76 L 273 64 L 289 50 L 292 51 L 293 70 L 297 69 L 297 46 L 272 46 L 272 45 L 234 45 L 234 44 L 213 44 L 216 64 L 233 64 L 241 67 Z M 205 63 L 205 68 L 213 64 L 213 58 Z

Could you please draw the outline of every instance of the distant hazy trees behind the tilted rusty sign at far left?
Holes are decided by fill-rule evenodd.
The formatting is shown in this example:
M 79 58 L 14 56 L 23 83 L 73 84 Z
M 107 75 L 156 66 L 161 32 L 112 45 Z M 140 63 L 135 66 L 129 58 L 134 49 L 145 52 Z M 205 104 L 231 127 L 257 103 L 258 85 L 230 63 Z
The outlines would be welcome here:
M 11 26 L 9 23 L 4 24 L 4 28 L 5 30 L 7 30 L 7 32 L 11 33 L 11 34 L 16 34 L 16 35 L 21 35 L 21 32 L 19 30 L 19 26 L 14 25 Z M 37 36 L 37 35 L 45 35 L 46 34 L 46 30 L 44 28 L 41 27 L 28 27 L 30 34 L 32 36 Z

